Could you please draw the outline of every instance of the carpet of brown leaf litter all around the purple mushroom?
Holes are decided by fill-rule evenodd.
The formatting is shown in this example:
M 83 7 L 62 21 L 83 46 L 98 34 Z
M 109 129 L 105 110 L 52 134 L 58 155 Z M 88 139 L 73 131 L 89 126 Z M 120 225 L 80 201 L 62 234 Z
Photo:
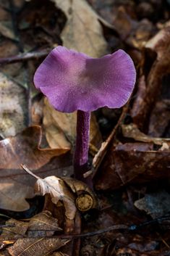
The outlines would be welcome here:
M 12 216 L 0 220 L 14 225 L 1 231 L 0 254 L 169 255 L 169 1 L 11 0 L 0 1 L 0 13 L 0 57 L 9 63 L 0 67 L 0 207 Z M 54 116 L 32 84 L 35 67 L 59 44 L 93 57 L 126 49 L 138 70 L 129 109 L 94 114 L 90 162 L 98 205 L 88 213 L 75 204 L 85 186 L 76 189 L 65 178 L 72 176 L 75 117 Z M 10 64 L 18 54 L 20 62 Z M 36 180 L 20 164 L 67 188 L 74 208 L 69 239 L 59 237 L 67 234 L 61 194 L 57 205 L 46 194 L 41 208 L 21 220 Z M 114 229 L 121 225 L 130 228 Z M 113 231 L 103 233 L 107 227 Z M 80 246 L 74 233 L 91 236 Z

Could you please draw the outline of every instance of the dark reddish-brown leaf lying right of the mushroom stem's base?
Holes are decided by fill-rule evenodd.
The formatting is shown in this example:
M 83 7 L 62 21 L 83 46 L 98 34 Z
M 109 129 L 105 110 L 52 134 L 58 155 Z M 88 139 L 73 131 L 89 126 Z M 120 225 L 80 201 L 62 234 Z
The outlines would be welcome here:
M 145 183 L 169 178 L 169 146 L 153 150 L 153 143 L 125 143 L 111 147 L 107 161 L 103 161 L 96 189 L 118 189 L 127 183 Z

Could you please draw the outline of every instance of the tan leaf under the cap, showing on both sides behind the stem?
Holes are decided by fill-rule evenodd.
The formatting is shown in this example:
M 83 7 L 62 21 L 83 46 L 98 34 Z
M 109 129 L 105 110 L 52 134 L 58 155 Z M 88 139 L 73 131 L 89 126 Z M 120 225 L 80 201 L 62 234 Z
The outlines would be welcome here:
M 62 113 L 54 110 L 48 99 L 44 99 L 43 125 L 46 131 L 46 140 L 52 149 L 74 146 L 76 136 L 77 113 Z M 90 121 L 90 149 L 101 145 L 101 133 L 95 115 L 92 113 Z

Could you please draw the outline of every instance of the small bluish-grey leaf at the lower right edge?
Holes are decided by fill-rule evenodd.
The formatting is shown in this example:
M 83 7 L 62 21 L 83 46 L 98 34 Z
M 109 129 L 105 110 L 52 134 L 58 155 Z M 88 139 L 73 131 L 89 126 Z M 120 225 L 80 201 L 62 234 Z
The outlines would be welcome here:
M 135 201 L 135 207 L 144 210 L 153 219 L 169 213 L 170 195 L 166 191 L 145 194 L 145 197 Z

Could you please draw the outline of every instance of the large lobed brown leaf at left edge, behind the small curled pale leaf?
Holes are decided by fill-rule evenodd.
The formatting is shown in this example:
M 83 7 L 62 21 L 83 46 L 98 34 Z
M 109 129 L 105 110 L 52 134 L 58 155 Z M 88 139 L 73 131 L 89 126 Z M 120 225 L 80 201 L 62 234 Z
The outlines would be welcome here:
M 9 137 L 0 141 L 0 194 L 2 209 L 23 211 L 29 208 L 25 198 L 33 197 L 33 184 L 35 179 L 28 176 L 20 167 L 24 162 L 35 173 L 41 173 L 41 177 L 59 175 L 61 168 L 69 162 L 69 156 L 63 155 L 68 149 L 40 149 L 41 127 L 32 126 L 18 133 L 15 137 Z M 56 157 L 55 169 L 46 167 L 52 157 Z M 68 165 L 67 165 L 68 166 Z M 56 170 L 56 169 L 59 170 Z

